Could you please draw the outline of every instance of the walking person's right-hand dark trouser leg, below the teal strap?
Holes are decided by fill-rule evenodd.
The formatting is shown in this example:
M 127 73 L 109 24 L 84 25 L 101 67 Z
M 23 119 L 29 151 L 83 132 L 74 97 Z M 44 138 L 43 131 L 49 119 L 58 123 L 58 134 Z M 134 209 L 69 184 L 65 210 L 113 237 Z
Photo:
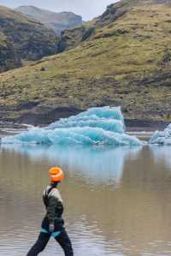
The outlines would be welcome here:
M 55 239 L 62 247 L 65 256 L 74 256 L 73 247 L 65 229 L 62 229 L 61 233 Z

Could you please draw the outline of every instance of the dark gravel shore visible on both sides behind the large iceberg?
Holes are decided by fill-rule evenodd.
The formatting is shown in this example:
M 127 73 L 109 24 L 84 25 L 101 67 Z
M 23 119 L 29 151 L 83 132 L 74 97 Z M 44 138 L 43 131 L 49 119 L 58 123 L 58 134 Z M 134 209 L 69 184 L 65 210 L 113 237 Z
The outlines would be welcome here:
M 62 106 L 55 109 L 42 107 L 41 109 L 29 110 L 22 113 L 19 117 L 8 118 L 7 113 L 0 111 L 0 128 L 23 128 L 26 126 L 45 127 L 52 122 L 56 122 L 61 118 L 76 116 L 85 110 L 81 110 L 74 106 Z M 5 117 L 6 116 L 6 117 Z M 128 116 L 124 114 L 124 121 L 127 132 L 152 132 L 155 130 L 163 130 L 171 122 L 162 119 L 154 120 L 144 116 Z

